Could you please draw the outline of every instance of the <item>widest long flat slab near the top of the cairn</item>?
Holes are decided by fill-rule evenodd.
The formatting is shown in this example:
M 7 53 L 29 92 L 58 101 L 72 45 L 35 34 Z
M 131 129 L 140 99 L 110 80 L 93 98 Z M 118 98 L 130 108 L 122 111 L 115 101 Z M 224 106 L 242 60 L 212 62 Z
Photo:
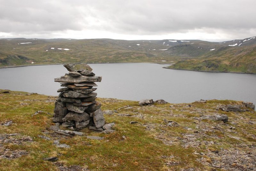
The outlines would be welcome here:
M 54 82 L 68 82 L 68 83 L 101 82 L 101 77 L 86 76 L 86 75 L 71 77 L 70 75 L 65 75 L 65 76 L 61 76 L 60 78 L 55 78 Z

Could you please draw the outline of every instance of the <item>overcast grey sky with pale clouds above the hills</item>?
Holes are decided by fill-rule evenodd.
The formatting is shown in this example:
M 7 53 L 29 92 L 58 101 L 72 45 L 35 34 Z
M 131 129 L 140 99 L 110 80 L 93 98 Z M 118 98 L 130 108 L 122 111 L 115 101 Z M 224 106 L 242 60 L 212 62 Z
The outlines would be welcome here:
M 0 38 L 200 39 L 256 36 L 256 0 L 0 0 Z

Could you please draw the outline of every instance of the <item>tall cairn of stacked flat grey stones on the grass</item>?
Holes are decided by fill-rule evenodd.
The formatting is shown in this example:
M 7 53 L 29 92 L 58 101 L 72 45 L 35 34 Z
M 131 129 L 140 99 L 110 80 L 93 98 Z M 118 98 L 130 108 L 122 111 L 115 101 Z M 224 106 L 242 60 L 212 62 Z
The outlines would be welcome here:
M 55 103 L 53 121 L 72 130 L 87 126 L 101 130 L 105 119 L 101 104 L 96 101 L 97 93 L 93 92 L 97 89 L 94 82 L 101 82 L 101 77 L 95 76 L 87 64 L 64 66 L 69 73 L 54 79 L 55 82 L 61 82 L 63 88 L 57 91 L 60 94 Z

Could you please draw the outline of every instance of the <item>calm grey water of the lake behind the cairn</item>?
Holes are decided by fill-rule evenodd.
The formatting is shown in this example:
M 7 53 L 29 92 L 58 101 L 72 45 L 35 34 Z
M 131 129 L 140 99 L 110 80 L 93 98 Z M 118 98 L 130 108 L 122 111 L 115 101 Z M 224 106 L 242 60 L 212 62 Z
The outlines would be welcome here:
M 97 97 L 125 100 L 153 98 L 169 103 L 230 99 L 256 103 L 256 75 L 164 69 L 148 63 L 90 64 L 102 76 Z M 63 65 L 0 69 L 0 89 L 58 95 L 54 78 L 68 73 Z

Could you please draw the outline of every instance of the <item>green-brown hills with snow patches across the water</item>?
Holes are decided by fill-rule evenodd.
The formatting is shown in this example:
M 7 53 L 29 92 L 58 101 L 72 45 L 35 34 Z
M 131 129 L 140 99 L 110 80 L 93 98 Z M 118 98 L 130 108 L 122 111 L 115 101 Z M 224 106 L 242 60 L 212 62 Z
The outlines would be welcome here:
M 174 69 L 256 73 L 256 39 L 0 39 L 0 66 L 157 62 Z

